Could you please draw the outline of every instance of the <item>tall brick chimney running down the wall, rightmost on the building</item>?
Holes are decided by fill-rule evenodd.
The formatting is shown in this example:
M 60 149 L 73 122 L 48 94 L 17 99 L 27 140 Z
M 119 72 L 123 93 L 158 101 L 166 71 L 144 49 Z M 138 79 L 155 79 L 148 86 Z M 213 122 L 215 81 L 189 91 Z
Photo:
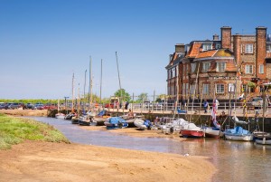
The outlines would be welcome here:
M 259 65 L 265 65 L 266 60 L 266 27 L 258 26 L 256 28 L 256 75 L 257 78 L 266 78 L 266 66 L 264 66 L 264 74 L 259 74 Z

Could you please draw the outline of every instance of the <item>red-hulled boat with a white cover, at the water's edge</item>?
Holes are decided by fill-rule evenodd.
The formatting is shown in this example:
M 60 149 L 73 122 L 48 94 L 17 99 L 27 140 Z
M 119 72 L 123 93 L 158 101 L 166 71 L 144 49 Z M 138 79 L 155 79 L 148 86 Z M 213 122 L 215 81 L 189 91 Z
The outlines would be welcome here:
M 204 132 L 200 127 L 197 127 L 194 123 L 189 123 L 181 129 L 180 134 L 182 137 L 201 138 L 204 136 Z

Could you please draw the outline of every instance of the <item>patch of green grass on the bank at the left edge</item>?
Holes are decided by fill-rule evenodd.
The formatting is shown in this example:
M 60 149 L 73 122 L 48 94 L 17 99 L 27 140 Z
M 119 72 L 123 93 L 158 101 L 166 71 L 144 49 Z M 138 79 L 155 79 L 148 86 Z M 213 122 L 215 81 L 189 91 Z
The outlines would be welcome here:
M 9 149 L 26 139 L 70 143 L 59 130 L 48 124 L 0 113 L 0 149 Z

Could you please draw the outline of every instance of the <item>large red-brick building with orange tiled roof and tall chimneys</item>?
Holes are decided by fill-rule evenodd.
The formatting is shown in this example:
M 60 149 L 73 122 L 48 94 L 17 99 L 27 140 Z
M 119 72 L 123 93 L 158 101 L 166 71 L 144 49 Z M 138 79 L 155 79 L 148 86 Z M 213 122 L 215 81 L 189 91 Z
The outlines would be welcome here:
M 221 39 L 176 44 L 167 70 L 168 101 L 196 98 L 229 101 L 243 92 L 260 95 L 271 80 L 271 36 L 266 27 L 256 34 L 231 34 L 223 26 Z M 177 94 L 178 93 L 178 94 Z

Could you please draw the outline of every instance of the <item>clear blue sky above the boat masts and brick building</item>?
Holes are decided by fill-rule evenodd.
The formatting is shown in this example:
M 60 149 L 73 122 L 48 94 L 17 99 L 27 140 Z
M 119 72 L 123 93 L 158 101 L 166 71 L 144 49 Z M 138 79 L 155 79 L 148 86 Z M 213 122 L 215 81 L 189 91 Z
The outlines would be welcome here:
M 260 2 L 260 3 L 259 3 Z M 71 78 L 83 92 L 89 56 L 93 92 L 122 88 L 130 94 L 166 92 L 169 54 L 176 43 L 212 39 L 220 27 L 232 34 L 271 34 L 270 1 L 0 0 L 0 98 L 71 97 Z M 88 91 L 88 89 L 86 89 Z

